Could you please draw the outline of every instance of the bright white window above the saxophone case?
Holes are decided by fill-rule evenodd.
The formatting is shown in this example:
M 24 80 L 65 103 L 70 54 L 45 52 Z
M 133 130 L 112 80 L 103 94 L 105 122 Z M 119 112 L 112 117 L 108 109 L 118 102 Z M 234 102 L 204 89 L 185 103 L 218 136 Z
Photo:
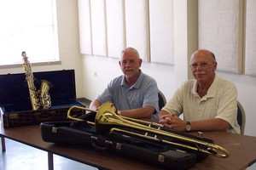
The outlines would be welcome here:
M 55 0 L 0 0 L 0 65 L 59 60 Z

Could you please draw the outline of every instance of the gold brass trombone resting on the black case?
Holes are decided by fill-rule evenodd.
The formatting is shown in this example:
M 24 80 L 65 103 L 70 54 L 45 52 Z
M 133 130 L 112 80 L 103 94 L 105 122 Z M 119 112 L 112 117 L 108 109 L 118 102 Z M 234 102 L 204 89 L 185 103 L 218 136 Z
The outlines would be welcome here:
M 212 156 L 218 156 L 218 157 L 230 156 L 230 152 L 228 150 L 224 149 L 223 147 L 217 144 L 212 144 L 200 139 L 193 139 L 193 138 L 183 136 L 181 134 L 165 131 L 161 129 L 161 127 L 163 126 L 158 123 L 141 121 L 141 120 L 133 119 L 126 116 L 119 116 L 118 114 L 116 114 L 117 110 L 115 105 L 113 105 L 113 103 L 111 102 L 103 103 L 99 107 L 98 111 L 90 110 L 88 108 L 75 106 L 75 105 L 72 106 L 67 111 L 67 118 L 75 121 L 84 121 L 83 119 L 79 119 L 71 116 L 71 112 L 73 109 L 96 112 L 95 122 L 88 122 L 88 121 L 86 122 L 90 123 L 91 125 L 95 125 L 96 132 L 100 134 L 113 133 L 113 132 L 126 133 L 128 135 L 130 134 L 138 137 L 143 137 L 145 139 L 152 139 L 152 140 L 160 141 L 166 144 L 177 145 L 189 150 L 197 150 Z M 119 127 L 131 127 L 133 129 L 143 131 L 145 132 L 145 134 L 134 133 L 131 131 L 121 129 Z M 154 133 L 154 136 L 149 136 L 148 133 Z M 183 141 L 183 143 L 185 144 L 179 144 L 177 142 L 162 139 L 160 138 L 160 135 L 164 137 L 171 137 L 172 139 L 178 139 L 179 141 Z M 200 145 L 205 146 L 205 148 L 207 149 L 201 149 Z

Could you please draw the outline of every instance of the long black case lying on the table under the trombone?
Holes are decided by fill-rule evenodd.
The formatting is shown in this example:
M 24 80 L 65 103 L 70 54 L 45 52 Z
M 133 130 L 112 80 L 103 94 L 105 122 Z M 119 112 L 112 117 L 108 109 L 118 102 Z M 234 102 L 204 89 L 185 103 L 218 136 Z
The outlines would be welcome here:
M 145 163 L 152 163 L 153 166 L 163 169 L 182 170 L 193 167 L 198 161 L 207 158 L 206 153 L 197 150 L 184 149 L 183 147 L 161 143 L 152 139 L 137 137 L 127 133 L 106 133 L 99 134 L 96 127 L 88 122 L 94 122 L 95 114 L 90 112 L 83 117 L 86 122 L 67 121 L 67 122 L 42 122 L 41 135 L 46 142 L 65 145 L 85 145 L 92 147 L 97 151 L 110 154 L 120 154 L 127 156 L 127 159 L 133 157 Z M 145 132 L 139 131 L 131 127 L 119 127 L 132 133 Z M 170 131 L 170 130 L 169 130 Z M 189 133 L 182 134 L 192 139 L 200 139 Z M 152 135 L 152 134 L 149 134 Z M 153 134 L 154 135 L 154 134 Z M 172 142 L 180 143 L 179 139 L 171 137 L 161 137 Z M 201 139 L 213 143 L 212 139 Z M 204 148 L 205 146 L 200 146 Z

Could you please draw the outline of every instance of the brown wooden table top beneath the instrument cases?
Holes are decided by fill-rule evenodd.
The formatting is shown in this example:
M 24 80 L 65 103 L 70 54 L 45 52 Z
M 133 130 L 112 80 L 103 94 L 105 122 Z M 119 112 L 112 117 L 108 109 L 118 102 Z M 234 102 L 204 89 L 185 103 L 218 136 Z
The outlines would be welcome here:
M 132 157 L 120 156 L 113 153 L 103 154 L 86 145 L 67 146 L 44 142 L 41 137 L 39 125 L 3 128 L 2 123 L 0 124 L 0 135 L 8 139 L 13 139 L 20 143 L 28 144 L 40 150 L 49 151 L 55 155 L 67 157 L 93 167 L 107 169 L 161 169 Z M 256 161 L 256 137 L 224 132 L 205 132 L 203 133 L 203 137 L 213 139 L 215 144 L 229 150 L 230 157 L 219 158 L 216 156 L 207 156 L 207 159 L 195 163 L 191 169 L 245 169 Z

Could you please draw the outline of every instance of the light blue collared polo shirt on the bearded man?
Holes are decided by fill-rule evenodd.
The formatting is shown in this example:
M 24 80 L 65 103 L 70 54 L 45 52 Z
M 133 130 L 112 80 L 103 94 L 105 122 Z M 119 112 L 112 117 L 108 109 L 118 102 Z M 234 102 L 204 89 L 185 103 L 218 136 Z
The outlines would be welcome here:
M 116 77 L 96 99 L 101 103 L 113 102 L 118 111 L 153 106 L 159 112 L 157 83 L 141 70 L 137 82 L 131 87 L 125 82 L 124 75 Z

